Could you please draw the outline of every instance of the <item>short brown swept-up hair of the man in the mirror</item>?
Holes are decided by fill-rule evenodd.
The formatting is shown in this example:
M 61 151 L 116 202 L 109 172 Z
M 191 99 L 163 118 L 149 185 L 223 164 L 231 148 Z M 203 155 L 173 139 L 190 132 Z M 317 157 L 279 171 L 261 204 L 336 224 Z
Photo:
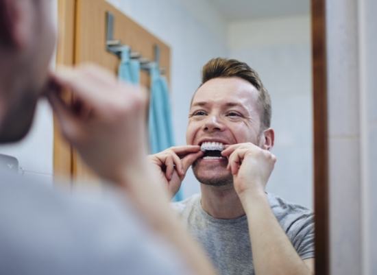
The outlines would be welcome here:
M 240 77 L 250 82 L 258 90 L 258 104 L 263 109 L 260 122 L 264 128 L 271 125 L 271 98 L 256 71 L 245 62 L 226 58 L 213 58 L 204 65 L 202 70 L 202 86 L 208 80 L 216 77 Z

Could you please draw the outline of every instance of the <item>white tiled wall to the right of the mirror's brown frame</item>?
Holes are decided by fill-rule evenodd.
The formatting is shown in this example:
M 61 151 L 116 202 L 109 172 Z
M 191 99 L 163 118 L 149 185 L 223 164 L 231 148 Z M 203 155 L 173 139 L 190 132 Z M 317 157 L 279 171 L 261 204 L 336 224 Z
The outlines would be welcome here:
M 330 274 L 377 274 L 377 3 L 327 3 Z

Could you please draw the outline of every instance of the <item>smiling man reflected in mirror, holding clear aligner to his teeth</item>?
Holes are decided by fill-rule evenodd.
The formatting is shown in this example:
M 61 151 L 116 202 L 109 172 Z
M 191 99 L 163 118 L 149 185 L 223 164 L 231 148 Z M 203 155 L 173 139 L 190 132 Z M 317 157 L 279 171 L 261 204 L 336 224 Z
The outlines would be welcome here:
M 202 195 L 175 204 L 221 274 L 313 274 L 313 215 L 265 193 L 271 101 L 258 74 L 237 60 L 203 68 L 186 146 L 149 156 L 173 195 L 190 165 Z

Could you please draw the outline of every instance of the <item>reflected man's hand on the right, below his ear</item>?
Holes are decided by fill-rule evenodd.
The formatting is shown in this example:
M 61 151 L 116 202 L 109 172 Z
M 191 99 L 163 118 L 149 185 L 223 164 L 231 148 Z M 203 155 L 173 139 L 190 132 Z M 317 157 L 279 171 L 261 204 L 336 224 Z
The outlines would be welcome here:
M 221 155 L 228 157 L 234 189 L 241 199 L 250 193 L 264 192 L 276 156 L 252 143 L 230 145 Z

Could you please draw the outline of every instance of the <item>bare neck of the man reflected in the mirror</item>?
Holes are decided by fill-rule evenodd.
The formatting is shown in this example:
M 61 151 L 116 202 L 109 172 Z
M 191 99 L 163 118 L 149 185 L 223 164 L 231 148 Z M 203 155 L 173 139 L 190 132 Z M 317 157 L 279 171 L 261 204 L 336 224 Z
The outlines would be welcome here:
M 217 219 L 236 219 L 245 215 L 239 196 L 233 185 L 222 187 L 201 184 L 202 208 Z

